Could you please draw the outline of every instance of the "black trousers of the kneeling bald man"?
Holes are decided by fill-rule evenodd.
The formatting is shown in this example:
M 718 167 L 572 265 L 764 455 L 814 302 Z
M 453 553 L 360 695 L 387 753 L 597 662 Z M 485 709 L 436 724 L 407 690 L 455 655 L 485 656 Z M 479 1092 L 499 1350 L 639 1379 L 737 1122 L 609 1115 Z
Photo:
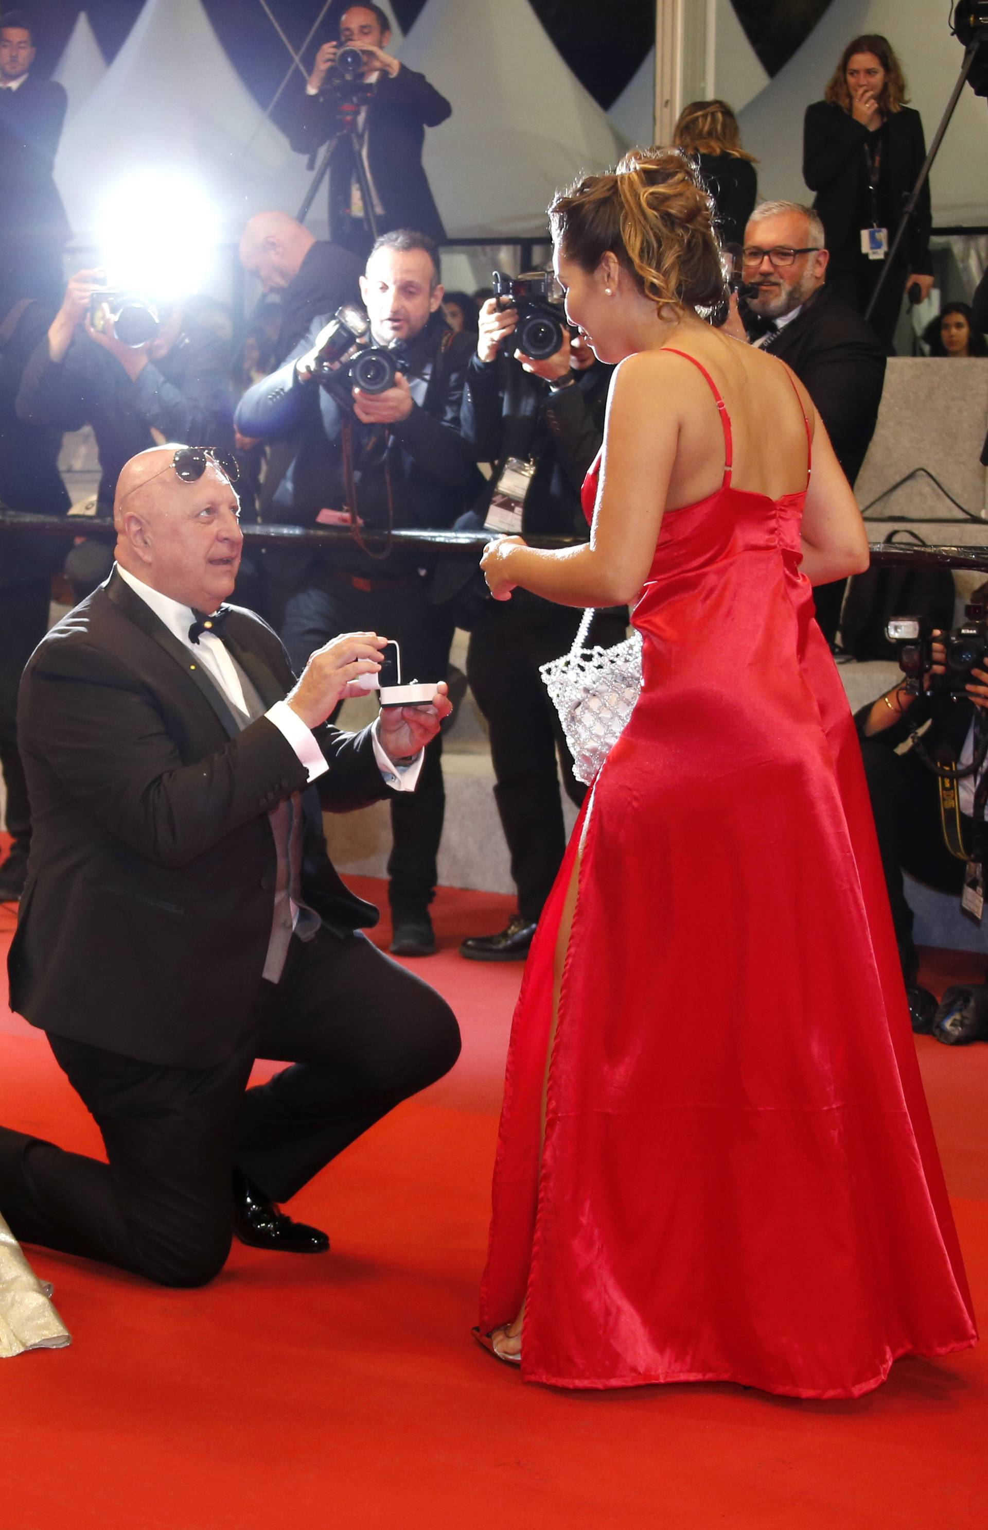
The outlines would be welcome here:
M 15 1238 L 162 1285 L 203 1285 L 232 1236 L 237 1164 L 288 1200 L 459 1056 L 453 1011 L 362 935 L 292 941 L 240 1047 L 164 1068 L 49 1036 L 109 1163 L 0 1128 L 0 1209 Z M 245 1094 L 255 1057 L 292 1066 Z

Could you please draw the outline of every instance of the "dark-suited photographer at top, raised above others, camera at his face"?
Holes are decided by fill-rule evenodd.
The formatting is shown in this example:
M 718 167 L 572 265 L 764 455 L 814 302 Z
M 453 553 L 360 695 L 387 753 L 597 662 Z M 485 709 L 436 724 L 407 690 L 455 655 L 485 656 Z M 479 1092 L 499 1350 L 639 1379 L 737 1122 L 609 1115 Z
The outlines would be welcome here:
M 301 155 L 314 155 L 335 135 L 329 161 L 329 237 L 361 260 L 373 234 L 364 208 L 353 147 L 341 132 L 336 98 L 336 57 L 341 49 L 358 49 L 364 57 L 358 83 L 356 138 L 373 199 L 378 234 L 393 228 L 418 228 L 430 239 L 445 239 L 439 210 L 433 200 L 422 144 L 427 127 L 437 127 L 450 116 L 445 96 L 424 75 L 407 69 L 387 52 L 392 29 L 376 5 L 355 5 L 344 11 L 340 41 L 326 43 L 315 57 L 289 142 Z M 362 89 L 359 89 L 362 87 Z M 347 98 L 353 90 L 344 87 Z

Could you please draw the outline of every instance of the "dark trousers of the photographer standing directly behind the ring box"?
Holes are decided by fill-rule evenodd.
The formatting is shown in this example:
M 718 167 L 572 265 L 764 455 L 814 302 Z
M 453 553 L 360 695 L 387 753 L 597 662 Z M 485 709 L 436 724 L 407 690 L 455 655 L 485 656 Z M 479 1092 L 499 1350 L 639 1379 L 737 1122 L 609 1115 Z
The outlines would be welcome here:
M 281 641 L 295 673 L 314 649 L 341 632 L 378 632 L 401 646 L 402 676 L 440 681 L 450 666 L 453 624 L 428 600 L 427 581 L 413 588 L 361 591 L 346 583 L 309 583 L 295 591 L 284 609 Z M 442 838 L 445 791 L 442 734 L 425 748 L 413 793 L 392 796 L 392 854 L 387 863 L 388 898 L 396 915 L 428 907 L 436 892 L 436 857 Z

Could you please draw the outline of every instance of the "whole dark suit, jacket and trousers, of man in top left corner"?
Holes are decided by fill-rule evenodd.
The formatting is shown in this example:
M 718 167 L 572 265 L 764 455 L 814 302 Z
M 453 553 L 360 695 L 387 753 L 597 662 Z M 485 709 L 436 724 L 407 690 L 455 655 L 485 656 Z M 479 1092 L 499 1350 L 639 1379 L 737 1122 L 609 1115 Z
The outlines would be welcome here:
M 66 92 L 31 73 L 15 90 L 0 89 L 0 268 L 11 297 L 55 297 L 69 222 L 52 177 L 66 119 Z

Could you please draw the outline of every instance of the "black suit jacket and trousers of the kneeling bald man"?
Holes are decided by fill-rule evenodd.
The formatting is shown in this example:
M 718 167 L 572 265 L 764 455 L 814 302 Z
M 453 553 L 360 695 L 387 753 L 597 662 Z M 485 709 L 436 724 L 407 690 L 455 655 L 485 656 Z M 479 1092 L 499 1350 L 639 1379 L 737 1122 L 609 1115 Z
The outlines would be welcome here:
M 223 641 L 265 705 L 281 644 L 236 609 Z M 32 656 L 20 734 L 35 815 L 11 1004 L 49 1033 L 110 1166 L 0 1129 L 3 1213 L 31 1242 L 165 1284 L 210 1279 L 229 1245 L 229 1169 L 292 1195 L 451 1066 L 447 1005 L 359 935 L 376 910 L 333 871 L 315 789 L 278 728 L 240 730 L 180 644 L 113 574 Z M 320 796 L 387 788 L 369 730 L 317 733 Z M 269 809 L 301 794 L 301 895 L 317 935 L 262 978 L 277 855 Z M 297 1066 L 243 1097 L 255 1056 Z

